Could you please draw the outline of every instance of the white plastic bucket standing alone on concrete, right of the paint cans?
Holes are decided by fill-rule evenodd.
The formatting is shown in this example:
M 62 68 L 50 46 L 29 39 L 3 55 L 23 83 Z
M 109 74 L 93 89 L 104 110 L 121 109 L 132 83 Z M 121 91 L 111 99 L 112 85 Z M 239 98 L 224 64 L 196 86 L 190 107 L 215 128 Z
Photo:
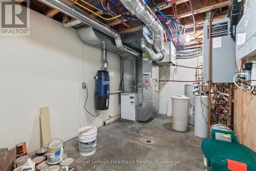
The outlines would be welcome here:
M 81 133 L 84 130 L 87 132 Z M 97 127 L 95 126 L 86 126 L 81 127 L 78 130 L 78 139 L 79 139 L 79 153 L 81 156 L 90 156 L 96 152 L 97 145 Z

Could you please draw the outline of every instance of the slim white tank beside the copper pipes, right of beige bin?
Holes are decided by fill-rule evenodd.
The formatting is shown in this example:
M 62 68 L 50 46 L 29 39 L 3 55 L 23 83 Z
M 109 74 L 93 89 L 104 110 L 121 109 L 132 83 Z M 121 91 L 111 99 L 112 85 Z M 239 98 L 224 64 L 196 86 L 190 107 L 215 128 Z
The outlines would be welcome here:
M 202 99 L 202 102 L 201 102 Z M 208 137 L 208 96 L 195 96 L 195 128 L 194 135 Z

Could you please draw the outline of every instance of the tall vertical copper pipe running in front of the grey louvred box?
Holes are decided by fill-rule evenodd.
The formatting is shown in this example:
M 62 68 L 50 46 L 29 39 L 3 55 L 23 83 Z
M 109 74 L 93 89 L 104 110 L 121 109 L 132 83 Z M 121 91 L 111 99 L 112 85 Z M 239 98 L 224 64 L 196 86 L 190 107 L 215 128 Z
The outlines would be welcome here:
M 210 88 L 211 88 L 211 13 L 209 12 L 209 81 L 208 81 L 208 138 L 210 138 Z

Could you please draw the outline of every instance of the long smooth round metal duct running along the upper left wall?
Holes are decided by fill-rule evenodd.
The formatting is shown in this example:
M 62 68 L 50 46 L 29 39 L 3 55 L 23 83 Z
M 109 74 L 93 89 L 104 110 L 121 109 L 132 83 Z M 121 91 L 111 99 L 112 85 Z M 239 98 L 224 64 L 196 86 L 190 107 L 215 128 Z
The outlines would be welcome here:
M 72 3 L 66 0 L 39 0 L 39 1 L 41 1 L 42 3 L 52 8 L 58 9 L 62 13 L 65 13 L 75 19 L 80 20 L 82 23 L 85 23 L 95 28 L 106 35 L 113 37 L 115 39 L 116 46 L 120 51 L 127 52 L 133 56 L 141 56 L 139 52 L 133 50 L 132 48 L 124 46 L 122 44 L 121 36 L 117 31 L 105 25 L 104 23 L 100 22 L 98 19 L 90 16 L 83 10 L 77 8 Z

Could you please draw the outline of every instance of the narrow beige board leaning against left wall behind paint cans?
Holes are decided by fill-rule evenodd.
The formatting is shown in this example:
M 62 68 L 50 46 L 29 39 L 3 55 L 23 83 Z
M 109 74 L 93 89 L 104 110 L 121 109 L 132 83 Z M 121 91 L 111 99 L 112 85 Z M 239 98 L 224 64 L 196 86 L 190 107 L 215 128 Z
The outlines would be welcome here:
M 49 107 L 40 108 L 40 123 L 41 123 L 42 145 L 46 146 L 52 139 Z

